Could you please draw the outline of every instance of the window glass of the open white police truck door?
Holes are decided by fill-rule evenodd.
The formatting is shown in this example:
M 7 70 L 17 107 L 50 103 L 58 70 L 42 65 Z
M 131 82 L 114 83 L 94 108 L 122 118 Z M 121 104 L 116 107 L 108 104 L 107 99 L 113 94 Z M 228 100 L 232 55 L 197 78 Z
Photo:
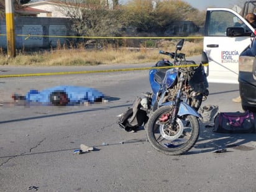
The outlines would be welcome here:
M 226 36 L 227 27 L 244 27 L 246 25 L 231 12 L 211 11 L 209 16 L 209 36 Z

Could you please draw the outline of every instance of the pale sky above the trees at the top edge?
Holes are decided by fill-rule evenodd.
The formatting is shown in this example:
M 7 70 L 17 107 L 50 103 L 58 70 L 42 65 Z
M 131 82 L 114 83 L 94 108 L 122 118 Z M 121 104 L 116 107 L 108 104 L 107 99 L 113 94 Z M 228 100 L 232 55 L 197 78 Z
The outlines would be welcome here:
M 129 0 L 119 0 L 119 3 L 125 4 Z M 232 8 L 235 4 L 239 5 L 240 0 L 183 0 L 199 10 L 205 10 L 207 7 L 227 7 Z

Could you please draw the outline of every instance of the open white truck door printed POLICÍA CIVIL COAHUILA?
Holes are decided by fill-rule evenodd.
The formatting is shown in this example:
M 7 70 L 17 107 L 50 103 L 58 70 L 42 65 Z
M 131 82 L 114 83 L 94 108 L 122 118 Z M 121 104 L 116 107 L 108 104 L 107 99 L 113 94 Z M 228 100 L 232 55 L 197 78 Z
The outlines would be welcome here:
M 228 27 L 243 27 L 244 34 L 227 36 Z M 232 9 L 210 8 L 204 26 L 204 52 L 209 58 L 208 81 L 238 83 L 239 55 L 252 40 L 254 28 Z

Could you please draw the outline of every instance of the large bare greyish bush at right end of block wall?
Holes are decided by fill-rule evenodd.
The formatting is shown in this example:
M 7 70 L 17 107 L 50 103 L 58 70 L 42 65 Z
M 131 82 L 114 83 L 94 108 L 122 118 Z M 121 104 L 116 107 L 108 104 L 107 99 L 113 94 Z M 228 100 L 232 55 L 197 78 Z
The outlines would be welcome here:
M 113 1 L 116 9 L 109 10 L 107 0 L 61 0 L 60 11 L 69 16 L 76 36 L 121 36 L 125 20 L 118 1 Z M 83 40 L 83 39 L 78 39 Z

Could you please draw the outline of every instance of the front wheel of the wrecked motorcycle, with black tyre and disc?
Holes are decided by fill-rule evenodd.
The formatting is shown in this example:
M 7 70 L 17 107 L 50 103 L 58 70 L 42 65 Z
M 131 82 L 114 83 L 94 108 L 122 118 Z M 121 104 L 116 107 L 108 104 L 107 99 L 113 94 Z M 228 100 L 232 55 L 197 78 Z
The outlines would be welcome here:
M 159 152 L 181 155 L 198 140 L 199 122 L 195 116 L 178 116 L 175 127 L 172 127 L 169 121 L 172 109 L 172 106 L 163 106 L 153 112 L 147 122 L 147 138 Z

